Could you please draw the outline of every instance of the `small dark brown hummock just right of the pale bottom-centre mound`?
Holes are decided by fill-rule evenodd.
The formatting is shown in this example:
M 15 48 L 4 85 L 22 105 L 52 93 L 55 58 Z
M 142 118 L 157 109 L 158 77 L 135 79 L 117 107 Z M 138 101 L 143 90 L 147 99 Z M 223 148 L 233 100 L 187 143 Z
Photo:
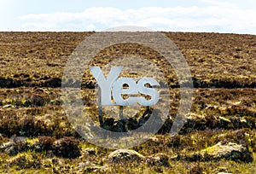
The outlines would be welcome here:
M 169 167 L 169 157 L 166 154 L 156 154 L 154 156 L 150 156 L 147 159 L 148 165 L 158 165 L 158 166 L 166 166 Z

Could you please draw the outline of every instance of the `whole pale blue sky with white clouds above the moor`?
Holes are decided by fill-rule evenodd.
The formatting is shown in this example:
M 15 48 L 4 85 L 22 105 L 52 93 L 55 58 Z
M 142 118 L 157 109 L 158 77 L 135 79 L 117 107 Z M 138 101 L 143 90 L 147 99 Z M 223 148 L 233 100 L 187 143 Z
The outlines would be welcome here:
M 87 32 L 143 26 L 166 32 L 256 34 L 255 0 L 0 0 L 0 31 Z

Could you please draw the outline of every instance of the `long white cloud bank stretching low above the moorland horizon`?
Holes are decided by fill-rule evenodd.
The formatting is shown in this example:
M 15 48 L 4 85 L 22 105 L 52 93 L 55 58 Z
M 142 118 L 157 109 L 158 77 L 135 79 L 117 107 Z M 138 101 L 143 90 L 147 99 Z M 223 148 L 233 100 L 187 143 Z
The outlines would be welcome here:
M 158 31 L 256 34 L 256 11 L 235 3 L 200 0 L 206 7 L 90 8 L 81 13 L 27 14 L 22 30 L 101 31 L 113 26 L 144 26 Z

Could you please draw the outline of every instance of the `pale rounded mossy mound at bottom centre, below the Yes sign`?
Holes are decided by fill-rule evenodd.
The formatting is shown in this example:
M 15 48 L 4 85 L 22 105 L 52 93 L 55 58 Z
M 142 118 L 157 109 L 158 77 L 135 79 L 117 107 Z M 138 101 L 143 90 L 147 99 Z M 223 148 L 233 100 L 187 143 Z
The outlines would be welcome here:
M 145 157 L 134 150 L 119 149 L 119 150 L 113 151 L 113 153 L 108 155 L 108 161 L 114 162 L 114 163 L 128 162 L 128 161 L 140 162 L 143 159 L 145 159 Z

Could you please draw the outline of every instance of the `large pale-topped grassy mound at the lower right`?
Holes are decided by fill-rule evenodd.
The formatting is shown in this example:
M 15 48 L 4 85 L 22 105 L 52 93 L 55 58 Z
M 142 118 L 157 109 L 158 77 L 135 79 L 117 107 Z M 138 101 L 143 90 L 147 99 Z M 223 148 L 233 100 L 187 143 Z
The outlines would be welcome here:
M 243 162 L 252 162 L 253 154 L 243 145 L 236 144 L 232 142 L 218 142 L 216 145 L 201 150 L 199 153 L 192 154 L 190 157 L 187 157 L 189 160 L 198 160 L 203 161 L 207 160 L 219 160 L 219 159 L 228 159 L 228 160 L 241 160 Z

